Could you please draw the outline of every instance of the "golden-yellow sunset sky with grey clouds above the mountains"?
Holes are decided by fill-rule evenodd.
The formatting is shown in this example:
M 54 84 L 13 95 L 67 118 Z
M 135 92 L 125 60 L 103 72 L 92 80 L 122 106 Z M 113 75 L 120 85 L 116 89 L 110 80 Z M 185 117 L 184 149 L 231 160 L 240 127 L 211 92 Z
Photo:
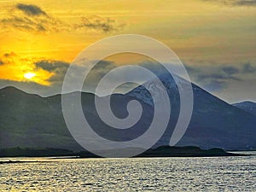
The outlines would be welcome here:
M 0 6 L 0 88 L 60 93 L 83 49 L 129 33 L 166 44 L 192 82 L 224 101 L 256 102 L 255 0 L 1 0 Z M 142 56 L 116 55 L 99 73 L 109 63 L 142 62 Z

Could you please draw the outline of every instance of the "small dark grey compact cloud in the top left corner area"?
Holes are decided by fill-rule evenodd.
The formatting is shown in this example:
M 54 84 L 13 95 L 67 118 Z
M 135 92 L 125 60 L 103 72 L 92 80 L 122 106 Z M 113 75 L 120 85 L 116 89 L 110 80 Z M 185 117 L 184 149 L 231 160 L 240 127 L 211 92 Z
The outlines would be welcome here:
M 47 15 L 42 9 L 36 5 L 18 3 L 17 9 L 20 9 L 24 14 L 29 16 Z

